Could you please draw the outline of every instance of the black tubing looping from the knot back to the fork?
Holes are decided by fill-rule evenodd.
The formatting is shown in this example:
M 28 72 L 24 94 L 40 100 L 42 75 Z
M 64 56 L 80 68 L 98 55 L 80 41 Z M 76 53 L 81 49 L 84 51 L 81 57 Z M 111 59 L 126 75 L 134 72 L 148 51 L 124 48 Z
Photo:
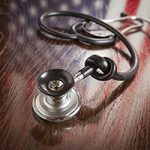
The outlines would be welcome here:
M 115 74 L 115 76 L 113 77 L 113 79 L 116 80 L 129 80 L 131 78 L 133 78 L 135 76 L 135 73 L 137 72 L 138 69 L 138 55 L 136 53 L 136 51 L 134 50 L 133 46 L 128 42 L 128 40 L 125 38 L 125 36 L 123 34 L 121 34 L 118 30 L 116 30 L 115 28 L 111 27 L 110 25 L 108 25 L 107 23 L 86 15 L 86 14 L 82 14 L 82 13 L 78 13 L 78 12 L 70 12 L 70 11 L 57 11 L 57 12 L 46 12 L 44 13 L 40 19 L 39 19 L 39 26 L 40 28 L 49 34 L 52 34 L 54 36 L 60 37 L 60 38 L 65 38 L 65 39 L 72 39 L 72 40 L 81 40 L 84 41 L 85 37 L 81 34 L 67 34 L 67 33 L 61 33 L 59 31 L 56 31 L 52 28 L 49 28 L 45 25 L 44 19 L 45 18 L 49 18 L 49 17 L 53 17 L 53 16 L 71 16 L 71 17 L 79 17 L 84 19 L 85 21 L 89 22 L 95 22 L 96 24 L 103 26 L 104 28 L 106 28 L 107 30 L 110 30 L 112 33 L 114 33 L 114 35 L 120 39 L 124 45 L 128 48 L 130 55 L 131 55 L 131 67 L 127 72 L 117 72 Z

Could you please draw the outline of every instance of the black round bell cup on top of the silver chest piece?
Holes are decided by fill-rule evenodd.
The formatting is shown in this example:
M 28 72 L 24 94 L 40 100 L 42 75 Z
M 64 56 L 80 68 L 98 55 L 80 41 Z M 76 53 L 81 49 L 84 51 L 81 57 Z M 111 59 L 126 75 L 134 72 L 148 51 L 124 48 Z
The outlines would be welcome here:
M 52 69 L 43 72 L 37 83 L 39 90 L 49 96 L 61 96 L 75 84 L 73 76 L 63 69 Z

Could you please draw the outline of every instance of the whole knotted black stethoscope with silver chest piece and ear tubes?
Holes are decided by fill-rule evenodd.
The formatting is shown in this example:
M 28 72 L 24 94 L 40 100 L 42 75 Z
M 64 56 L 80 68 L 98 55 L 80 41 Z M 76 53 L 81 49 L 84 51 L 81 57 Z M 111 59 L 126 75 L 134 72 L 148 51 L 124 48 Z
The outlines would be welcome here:
M 73 24 L 69 33 L 63 33 L 48 27 L 45 23 L 45 19 L 57 16 L 77 17 L 82 21 Z M 133 21 L 134 24 L 121 32 L 108 24 L 126 20 Z M 98 55 L 87 58 L 85 66 L 74 76 L 63 69 L 52 69 L 43 72 L 37 79 L 40 92 L 33 100 L 33 110 L 36 115 L 53 122 L 68 120 L 75 116 L 80 110 L 81 102 L 80 95 L 74 85 L 89 75 L 100 81 L 132 79 L 138 70 L 139 60 L 135 49 L 124 34 L 141 29 L 144 21 L 150 23 L 145 18 L 126 15 L 114 20 L 99 20 L 78 12 L 57 11 L 44 13 L 38 21 L 40 31 L 44 36 L 64 41 L 77 40 L 87 45 L 114 45 L 118 41 L 122 41 L 128 49 L 131 59 L 130 69 L 127 72 L 118 72 L 112 59 Z M 103 29 L 102 32 L 93 32 L 90 27 L 94 24 L 105 28 L 105 31 Z M 84 34 L 82 34 L 83 32 Z M 104 32 L 105 34 L 102 34 Z

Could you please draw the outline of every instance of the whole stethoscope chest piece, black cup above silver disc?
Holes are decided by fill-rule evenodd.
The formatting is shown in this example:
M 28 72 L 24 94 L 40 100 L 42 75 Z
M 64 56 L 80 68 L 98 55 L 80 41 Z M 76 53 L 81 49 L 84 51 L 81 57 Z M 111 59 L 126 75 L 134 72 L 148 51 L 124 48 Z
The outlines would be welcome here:
M 64 121 L 80 109 L 79 93 L 73 88 L 73 76 L 62 69 L 48 70 L 38 78 L 40 92 L 33 99 L 36 115 L 47 121 Z

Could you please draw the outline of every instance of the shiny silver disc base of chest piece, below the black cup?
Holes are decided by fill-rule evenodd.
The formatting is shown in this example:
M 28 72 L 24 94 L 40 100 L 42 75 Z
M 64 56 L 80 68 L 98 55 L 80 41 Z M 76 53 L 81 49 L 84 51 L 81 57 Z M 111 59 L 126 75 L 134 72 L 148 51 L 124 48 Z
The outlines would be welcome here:
M 70 119 L 81 107 L 80 95 L 73 88 L 61 97 L 51 97 L 40 92 L 34 97 L 32 105 L 37 116 L 52 122 Z

